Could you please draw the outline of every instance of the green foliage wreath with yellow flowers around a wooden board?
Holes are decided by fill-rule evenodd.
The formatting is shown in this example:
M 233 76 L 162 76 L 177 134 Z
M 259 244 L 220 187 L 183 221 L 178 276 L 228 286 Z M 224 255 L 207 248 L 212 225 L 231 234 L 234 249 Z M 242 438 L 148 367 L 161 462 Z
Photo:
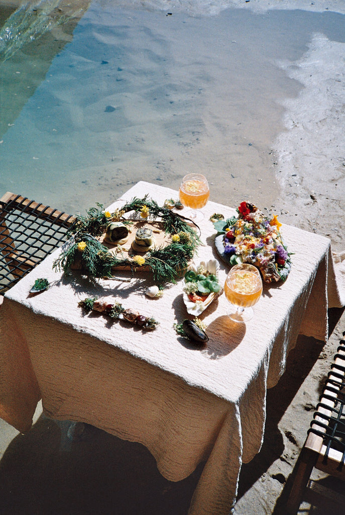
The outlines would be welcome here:
M 131 224 L 123 217 L 125 213 L 134 211 L 141 218 L 155 220 L 159 218 L 165 233 L 171 236 L 171 243 L 165 247 L 153 248 L 145 255 L 114 255 L 97 239 L 108 224 L 121 221 Z M 95 278 L 111 278 L 113 269 L 130 268 L 132 272 L 141 267 L 148 267 L 153 272 L 153 278 L 158 283 L 176 282 L 177 276 L 185 270 L 193 259 L 197 245 L 200 243 L 195 230 L 185 221 L 184 217 L 165 207 L 159 207 L 157 202 L 145 195 L 142 199 L 133 198 L 113 213 L 105 211 L 102 204 L 86 212 L 87 216 L 77 216 L 75 223 L 69 229 L 72 236 L 69 246 L 63 250 L 53 263 L 53 268 L 68 272 L 80 263 L 85 273 Z

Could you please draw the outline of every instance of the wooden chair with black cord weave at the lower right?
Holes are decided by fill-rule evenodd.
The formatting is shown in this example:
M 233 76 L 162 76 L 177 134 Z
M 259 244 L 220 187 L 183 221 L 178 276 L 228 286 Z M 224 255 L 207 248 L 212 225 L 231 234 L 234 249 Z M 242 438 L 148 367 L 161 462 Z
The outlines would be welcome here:
M 345 340 L 340 340 L 337 353 L 325 382 L 317 411 L 311 422 L 307 439 L 301 451 L 295 470 L 295 478 L 290 491 L 286 513 L 295 515 L 307 492 L 307 484 L 313 468 L 345 479 Z M 310 482 L 315 488 L 315 483 Z M 325 490 L 322 492 L 326 492 Z M 330 513 L 342 504 L 345 513 L 345 497 L 340 494 L 328 496 Z M 332 507 L 332 502 L 334 503 Z M 339 513 L 339 511 L 336 511 Z

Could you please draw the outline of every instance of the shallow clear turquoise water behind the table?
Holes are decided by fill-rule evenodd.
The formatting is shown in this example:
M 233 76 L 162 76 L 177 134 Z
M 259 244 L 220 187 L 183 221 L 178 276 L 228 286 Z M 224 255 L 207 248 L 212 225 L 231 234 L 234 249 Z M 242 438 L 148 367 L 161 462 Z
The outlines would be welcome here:
M 270 180 L 282 102 L 302 87 L 279 63 L 299 59 L 314 32 L 343 41 L 342 20 L 236 9 L 167 15 L 95 1 L 79 21 L 12 55 L 6 43 L 0 192 L 75 213 L 138 180 L 177 188 L 202 171 L 211 199 L 228 203 L 224 185 L 241 197 L 254 178 Z

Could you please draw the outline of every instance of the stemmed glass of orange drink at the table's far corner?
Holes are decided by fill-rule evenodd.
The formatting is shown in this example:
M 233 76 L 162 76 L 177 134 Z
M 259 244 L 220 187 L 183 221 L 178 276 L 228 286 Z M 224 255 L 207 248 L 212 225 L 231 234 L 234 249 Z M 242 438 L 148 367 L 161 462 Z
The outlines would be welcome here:
M 191 208 L 185 216 L 198 222 L 204 218 L 203 213 L 197 211 L 207 204 L 210 188 L 207 179 L 201 174 L 188 174 L 182 179 L 179 187 L 179 199 L 186 208 Z

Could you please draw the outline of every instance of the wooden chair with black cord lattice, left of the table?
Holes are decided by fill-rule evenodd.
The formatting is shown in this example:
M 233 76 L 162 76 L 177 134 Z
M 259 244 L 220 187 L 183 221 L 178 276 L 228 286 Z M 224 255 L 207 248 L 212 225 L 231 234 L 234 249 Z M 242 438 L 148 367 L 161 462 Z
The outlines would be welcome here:
M 66 241 L 75 217 L 7 192 L 0 199 L 0 295 Z

